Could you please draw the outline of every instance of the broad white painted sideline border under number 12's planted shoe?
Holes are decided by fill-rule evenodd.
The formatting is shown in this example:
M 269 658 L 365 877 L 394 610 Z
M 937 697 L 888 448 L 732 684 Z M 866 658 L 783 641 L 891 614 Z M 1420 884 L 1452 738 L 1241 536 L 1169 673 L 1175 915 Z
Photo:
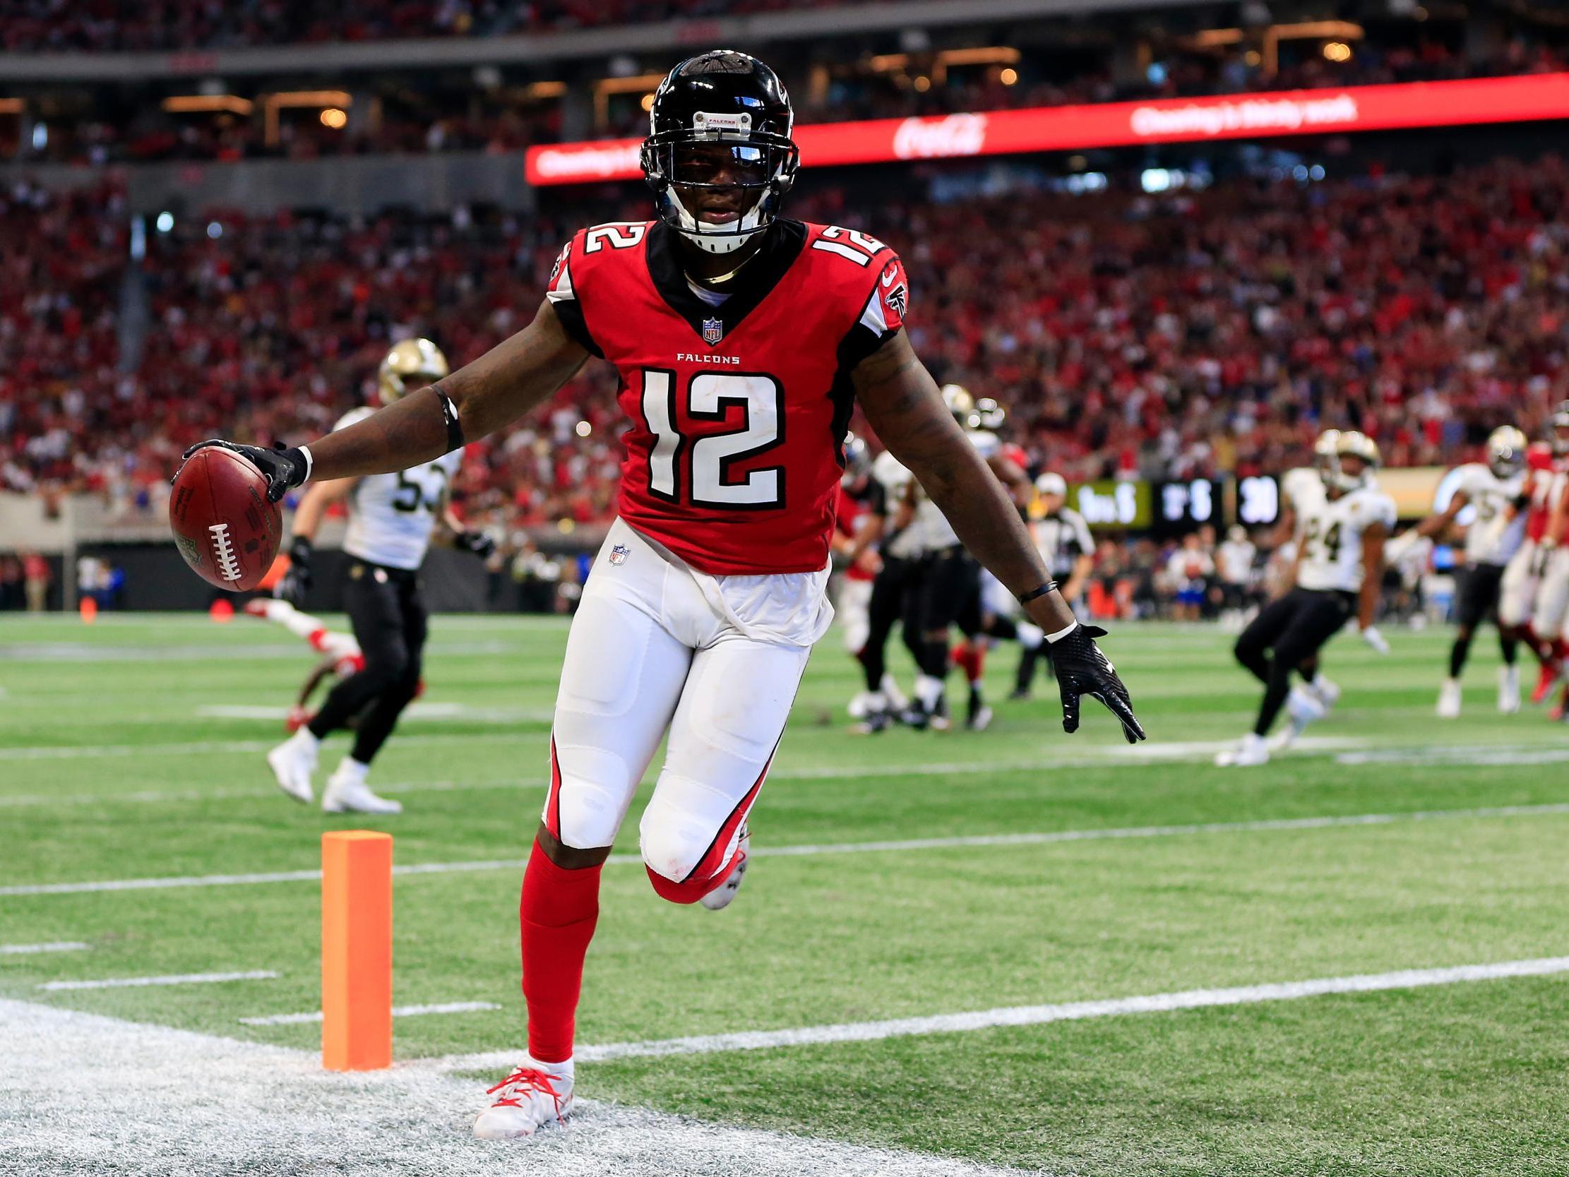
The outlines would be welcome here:
M 24 1001 L 0 1000 L 0 1040 L 5 1042 L 0 1050 L 3 1172 L 182 1177 L 237 1172 L 1001 1177 L 1017 1172 L 585 1100 L 565 1127 L 526 1141 L 475 1141 L 469 1125 L 488 1102 L 483 1083 L 408 1066 L 337 1075 L 322 1070 L 320 1056 L 304 1050 Z

